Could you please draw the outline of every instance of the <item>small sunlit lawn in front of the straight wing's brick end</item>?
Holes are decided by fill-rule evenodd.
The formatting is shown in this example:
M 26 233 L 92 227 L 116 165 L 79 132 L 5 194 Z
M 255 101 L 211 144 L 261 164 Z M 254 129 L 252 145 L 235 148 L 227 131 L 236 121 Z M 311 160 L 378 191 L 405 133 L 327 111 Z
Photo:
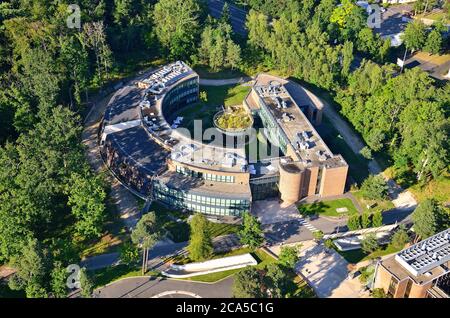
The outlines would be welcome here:
M 336 209 L 347 208 L 348 212 L 338 213 Z M 320 201 L 315 203 L 300 204 L 298 210 L 302 215 L 324 215 L 331 217 L 339 217 L 341 215 L 349 215 L 358 213 L 352 200 L 350 199 L 337 199 L 332 201 Z

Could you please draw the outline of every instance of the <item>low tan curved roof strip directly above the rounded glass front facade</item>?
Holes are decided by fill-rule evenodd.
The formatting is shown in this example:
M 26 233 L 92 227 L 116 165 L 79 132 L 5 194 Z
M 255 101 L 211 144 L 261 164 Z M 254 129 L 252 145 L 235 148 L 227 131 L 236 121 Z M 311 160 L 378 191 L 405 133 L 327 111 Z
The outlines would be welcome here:
M 182 175 L 174 171 L 166 171 L 156 179 L 169 188 L 186 191 L 191 194 L 199 193 L 205 195 L 210 193 L 212 196 L 220 195 L 224 198 L 242 198 L 247 200 L 251 198 L 248 184 L 208 181 L 202 178 Z

